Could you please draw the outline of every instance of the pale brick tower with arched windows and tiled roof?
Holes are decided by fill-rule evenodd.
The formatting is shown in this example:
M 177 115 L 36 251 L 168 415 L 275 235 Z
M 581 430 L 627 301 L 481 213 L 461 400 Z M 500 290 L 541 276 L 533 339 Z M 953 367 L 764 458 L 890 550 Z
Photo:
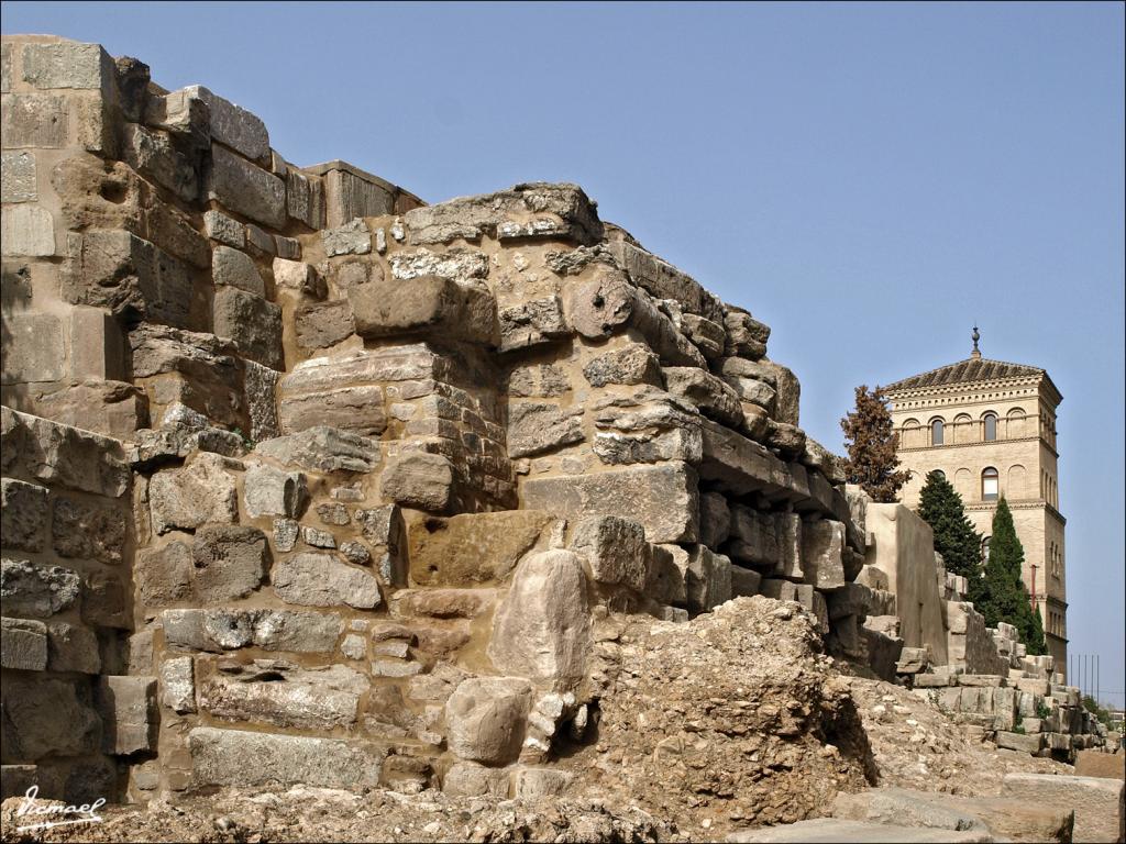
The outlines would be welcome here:
M 927 473 L 941 470 L 988 540 L 1003 495 L 1025 548 L 1025 586 L 1044 622 L 1056 671 L 1067 666 L 1067 591 L 1060 512 L 1056 407 L 1063 396 L 1038 367 L 966 360 L 885 387 L 900 434 L 899 457 L 911 478 L 903 503 L 919 506 Z M 988 549 L 986 549 L 988 550 Z

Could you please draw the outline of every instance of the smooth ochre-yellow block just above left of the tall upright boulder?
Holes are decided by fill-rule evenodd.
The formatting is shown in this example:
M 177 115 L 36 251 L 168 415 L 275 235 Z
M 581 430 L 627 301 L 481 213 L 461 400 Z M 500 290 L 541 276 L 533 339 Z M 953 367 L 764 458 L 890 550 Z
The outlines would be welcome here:
M 474 586 L 502 581 L 554 521 L 537 510 L 421 519 L 408 531 L 411 580 L 421 586 Z

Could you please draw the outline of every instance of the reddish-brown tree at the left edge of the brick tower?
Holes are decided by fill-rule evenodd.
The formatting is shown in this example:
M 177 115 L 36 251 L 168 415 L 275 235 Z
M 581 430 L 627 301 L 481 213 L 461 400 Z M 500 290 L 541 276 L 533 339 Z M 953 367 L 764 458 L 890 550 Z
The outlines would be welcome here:
M 899 472 L 895 455 L 899 434 L 892 430 L 892 414 L 884 392 L 867 385 L 856 388 L 856 410 L 841 420 L 848 460 L 844 473 L 850 484 L 859 484 L 873 501 L 887 504 L 897 500 L 910 474 Z

